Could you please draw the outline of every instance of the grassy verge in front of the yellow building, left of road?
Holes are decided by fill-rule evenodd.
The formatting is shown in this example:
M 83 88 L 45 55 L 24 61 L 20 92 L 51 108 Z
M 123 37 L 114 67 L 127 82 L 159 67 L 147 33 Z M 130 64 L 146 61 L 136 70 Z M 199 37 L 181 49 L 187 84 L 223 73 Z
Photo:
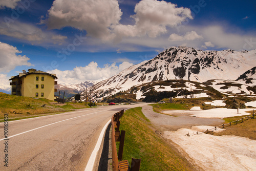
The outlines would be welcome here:
M 46 104 L 44 107 L 42 105 Z M 9 120 L 25 119 L 30 117 L 56 114 L 86 108 L 85 103 L 57 103 L 56 101 L 8 95 L 0 92 L 0 121 L 4 114 L 8 114 Z

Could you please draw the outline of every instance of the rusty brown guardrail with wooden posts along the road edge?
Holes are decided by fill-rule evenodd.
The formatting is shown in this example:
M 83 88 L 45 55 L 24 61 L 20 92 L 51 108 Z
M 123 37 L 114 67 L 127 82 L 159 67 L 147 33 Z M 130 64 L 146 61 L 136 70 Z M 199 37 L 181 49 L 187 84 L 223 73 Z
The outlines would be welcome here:
M 120 127 L 119 119 L 122 117 L 123 112 L 124 110 L 117 112 L 111 118 L 112 168 L 113 168 L 113 171 L 127 171 L 127 170 L 139 171 L 141 159 L 132 158 L 131 167 L 129 166 L 128 160 L 122 161 L 125 131 L 121 131 L 121 132 L 119 131 L 119 127 Z M 117 149 L 116 149 L 116 142 L 120 142 L 118 155 L 117 155 Z

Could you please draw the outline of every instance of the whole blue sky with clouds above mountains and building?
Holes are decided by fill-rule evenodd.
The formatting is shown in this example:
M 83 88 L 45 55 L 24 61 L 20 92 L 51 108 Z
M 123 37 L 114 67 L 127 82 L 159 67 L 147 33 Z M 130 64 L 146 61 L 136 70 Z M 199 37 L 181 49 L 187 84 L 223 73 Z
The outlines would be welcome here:
M 173 46 L 256 49 L 256 1 L 0 0 L 0 88 L 34 68 L 110 78 Z

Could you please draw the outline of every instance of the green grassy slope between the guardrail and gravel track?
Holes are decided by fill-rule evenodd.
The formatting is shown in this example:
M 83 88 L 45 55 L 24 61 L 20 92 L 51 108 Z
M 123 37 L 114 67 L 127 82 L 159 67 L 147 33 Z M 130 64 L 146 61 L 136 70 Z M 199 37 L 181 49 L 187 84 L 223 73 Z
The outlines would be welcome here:
M 125 130 L 123 159 L 131 165 L 141 159 L 140 170 L 195 170 L 173 146 L 152 130 L 152 124 L 141 108 L 125 111 L 120 119 L 120 131 Z M 118 151 L 119 143 L 117 143 Z

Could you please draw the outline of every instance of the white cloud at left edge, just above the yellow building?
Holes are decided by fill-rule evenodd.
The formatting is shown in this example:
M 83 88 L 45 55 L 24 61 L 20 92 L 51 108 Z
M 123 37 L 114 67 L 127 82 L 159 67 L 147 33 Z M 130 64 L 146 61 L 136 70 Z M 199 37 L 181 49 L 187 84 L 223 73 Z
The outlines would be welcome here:
M 16 47 L 0 42 L 0 72 L 10 72 L 17 66 L 31 66 L 27 56 L 16 55 L 22 53 Z

